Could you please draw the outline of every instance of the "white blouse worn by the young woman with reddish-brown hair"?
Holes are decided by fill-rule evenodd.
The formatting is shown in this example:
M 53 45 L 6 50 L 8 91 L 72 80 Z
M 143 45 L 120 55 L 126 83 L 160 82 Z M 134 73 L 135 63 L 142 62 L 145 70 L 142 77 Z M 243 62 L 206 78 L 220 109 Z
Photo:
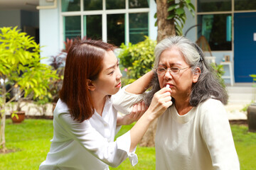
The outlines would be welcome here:
M 102 170 L 109 169 L 108 165 L 118 166 L 127 157 L 132 166 L 137 164 L 135 149 L 129 152 L 129 132 L 114 141 L 117 125 L 117 110 L 112 104 L 114 96 L 105 102 L 102 116 L 95 111 L 92 118 L 82 123 L 73 120 L 68 106 L 59 99 L 53 113 L 50 152 L 39 169 Z M 126 97 L 126 101 L 134 100 L 132 96 Z

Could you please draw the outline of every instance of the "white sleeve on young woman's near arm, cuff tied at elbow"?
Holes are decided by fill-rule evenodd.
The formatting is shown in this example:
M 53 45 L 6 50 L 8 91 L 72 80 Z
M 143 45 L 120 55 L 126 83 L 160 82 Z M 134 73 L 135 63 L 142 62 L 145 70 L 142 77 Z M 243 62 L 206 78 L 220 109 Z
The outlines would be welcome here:
M 129 132 L 117 138 L 115 142 L 108 142 L 107 138 L 92 128 L 89 120 L 79 123 L 71 118 L 70 113 L 60 113 L 58 120 L 66 135 L 78 141 L 82 147 L 105 164 L 117 167 L 127 157 L 132 159 L 132 166 L 137 164 L 137 155 L 129 152 L 131 145 Z

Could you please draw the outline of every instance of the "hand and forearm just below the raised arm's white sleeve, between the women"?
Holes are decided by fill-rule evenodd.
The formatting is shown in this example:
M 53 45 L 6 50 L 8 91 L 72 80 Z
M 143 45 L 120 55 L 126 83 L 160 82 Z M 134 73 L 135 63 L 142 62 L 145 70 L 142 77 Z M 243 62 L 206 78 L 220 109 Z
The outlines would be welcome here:
M 144 101 L 135 104 L 132 108 L 132 113 L 117 118 L 117 125 L 130 125 L 134 123 L 142 117 L 147 108 Z

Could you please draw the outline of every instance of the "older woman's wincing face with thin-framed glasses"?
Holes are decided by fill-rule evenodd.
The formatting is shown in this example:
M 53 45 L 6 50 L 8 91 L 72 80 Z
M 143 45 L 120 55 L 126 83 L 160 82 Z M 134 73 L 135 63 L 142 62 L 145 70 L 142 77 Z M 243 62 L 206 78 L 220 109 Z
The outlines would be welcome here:
M 175 99 L 188 97 L 191 94 L 192 84 L 198 80 L 198 75 L 192 73 L 191 67 L 185 62 L 185 58 L 177 47 L 172 47 L 161 53 L 159 67 L 168 70 L 168 72 L 158 75 L 161 88 L 169 84 L 172 90 L 171 96 Z M 181 70 L 175 74 L 171 71 L 177 70 L 174 67 Z

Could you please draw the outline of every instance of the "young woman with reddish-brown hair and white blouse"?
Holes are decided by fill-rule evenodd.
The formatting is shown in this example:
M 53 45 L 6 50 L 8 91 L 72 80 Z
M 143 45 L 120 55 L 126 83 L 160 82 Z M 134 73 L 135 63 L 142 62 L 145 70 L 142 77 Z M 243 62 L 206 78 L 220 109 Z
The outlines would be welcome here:
M 102 170 L 109 169 L 108 165 L 118 166 L 127 157 L 133 166 L 137 164 L 135 148 L 149 124 L 171 105 L 171 89 L 157 92 L 154 104 L 144 114 L 146 108 L 141 103 L 130 115 L 117 119 L 113 101 L 122 74 L 113 50 L 112 45 L 96 40 L 70 48 L 63 88 L 53 113 L 50 152 L 39 169 Z M 131 95 L 123 99 L 125 107 L 131 108 L 131 101 L 137 103 L 142 98 Z M 117 125 L 138 118 L 132 130 L 114 141 Z

